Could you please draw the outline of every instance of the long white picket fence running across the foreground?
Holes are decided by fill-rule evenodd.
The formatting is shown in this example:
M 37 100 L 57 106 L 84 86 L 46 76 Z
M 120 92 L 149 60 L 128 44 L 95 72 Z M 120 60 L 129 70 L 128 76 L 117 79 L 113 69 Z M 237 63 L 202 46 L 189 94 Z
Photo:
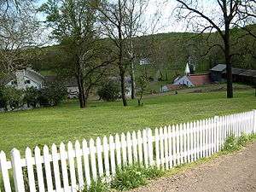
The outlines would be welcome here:
M 0 154 L 0 183 L 5 192 L 12 191 L 12 180 L 17 192 L 77 192 L 99 177 L 109 182 L 118 167 L 141 164 L 168 170 L 217 153 L 230 134 L 239 137 L 255 132 L 253 110 L 156 128 L 154 134 L 148 128 L 103 139 L 97 137 L 89 143 L 76 141 L 74 146 L 70 142 L 67 146 L 61 143 L 59 148 L 53 144 L 50 152 L 46 145 L 43 151 L 38 147 L 33 151 L 26 148 L 25 159 L 14 148 L 10 161 L 3 151 Z

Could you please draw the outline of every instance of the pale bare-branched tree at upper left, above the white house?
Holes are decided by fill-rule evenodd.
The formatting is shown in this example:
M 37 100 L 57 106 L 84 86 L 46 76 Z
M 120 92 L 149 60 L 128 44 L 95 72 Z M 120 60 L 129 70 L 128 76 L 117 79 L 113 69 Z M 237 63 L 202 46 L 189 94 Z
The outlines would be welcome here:
M 36 1 L 0 1 L 0 69 L 11 73 L 26 67 L 35 58 L 38 49 L 45 43 L 40 27 Z

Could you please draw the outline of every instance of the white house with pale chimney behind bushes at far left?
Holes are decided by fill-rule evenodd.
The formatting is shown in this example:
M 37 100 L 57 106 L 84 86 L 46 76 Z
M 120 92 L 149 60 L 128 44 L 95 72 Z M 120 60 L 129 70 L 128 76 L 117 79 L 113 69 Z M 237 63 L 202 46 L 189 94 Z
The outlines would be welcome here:
M 0 80 L 0 84 L 14 86 L 18 90 L 25 90 L 27 87 L 41 89 L 44 84 L 44 76 L 32 70 L 31 67 L 26 67 L 17 70 L 15 73 L 10 73 Z

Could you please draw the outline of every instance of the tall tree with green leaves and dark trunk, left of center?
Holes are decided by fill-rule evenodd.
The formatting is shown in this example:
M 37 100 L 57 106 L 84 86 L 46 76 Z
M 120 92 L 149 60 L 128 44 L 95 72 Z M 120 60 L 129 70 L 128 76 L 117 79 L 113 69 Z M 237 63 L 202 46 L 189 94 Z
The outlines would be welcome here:
M 77 79 L 80 108 L 87 107 L 90 90 L 100 82 L 110 63 L 111 54 L 108 49 L 102 52 L 100 44 L 96 4 L 96 0 L 48 0 L 41 7 L 53 28 L 52 36 L 70 55 L 70 64 L 61 67 Z

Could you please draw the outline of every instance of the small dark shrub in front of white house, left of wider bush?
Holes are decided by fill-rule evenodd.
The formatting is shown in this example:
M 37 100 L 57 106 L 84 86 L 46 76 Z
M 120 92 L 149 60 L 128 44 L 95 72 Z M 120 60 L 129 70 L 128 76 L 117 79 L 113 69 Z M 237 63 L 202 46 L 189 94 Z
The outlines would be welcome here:
M 27 107 L 32 106 L 36 108 L 39 102 L 40 92 L 35 87 L 28 87 L 25 90 L 23 101 L 26 102 Z

